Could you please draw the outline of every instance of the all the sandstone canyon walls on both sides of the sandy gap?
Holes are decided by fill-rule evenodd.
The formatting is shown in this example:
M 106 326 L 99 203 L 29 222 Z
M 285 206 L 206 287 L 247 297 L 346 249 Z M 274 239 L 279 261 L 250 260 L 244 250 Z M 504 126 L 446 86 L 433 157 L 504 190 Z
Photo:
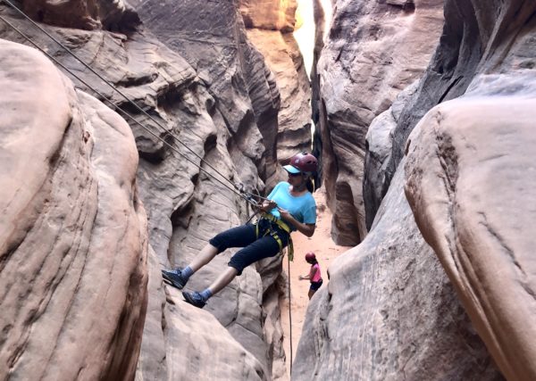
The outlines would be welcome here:
M 333 236 L 360 244 L 311 301 L 292 379 L 535 378 L 536 4 L 491 3 L 340 0 L 317 31 Z M 0 379 L 288 379 L 280 258 L 204 310 L 160 269 L 247 219 L 231 183 L 263 193 L 310 144 L 294 2 L 18 4 L 144 112 L 0 4 L 100 93 L 0 21 Z

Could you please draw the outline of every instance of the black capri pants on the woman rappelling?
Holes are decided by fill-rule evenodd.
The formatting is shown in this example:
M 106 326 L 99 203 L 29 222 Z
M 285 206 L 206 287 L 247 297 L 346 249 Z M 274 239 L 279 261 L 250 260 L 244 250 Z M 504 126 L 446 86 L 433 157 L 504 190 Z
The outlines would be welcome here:
M 277 233 L 283 247 L 287 247 L 289 244 L 289 234 L 279 228 L 277 224 L 272 223 L 269 219 L 260 219 L 257 223 L 259 225 L 258 238 L 255 235 L 255 225 L 247 224 L 225 230 L 208 241 L 218 249 L 218 253 L 222 253 L 230 247 L 243 247 L 230 258 L 228 263 L 230 267 L 239 271 L 238 275 L 241 275 L 242 270 L 250 264 L 273 257 L 280 252 L 280 246 L 275 238 L 270 233 L 264 235 L 267 231 Z

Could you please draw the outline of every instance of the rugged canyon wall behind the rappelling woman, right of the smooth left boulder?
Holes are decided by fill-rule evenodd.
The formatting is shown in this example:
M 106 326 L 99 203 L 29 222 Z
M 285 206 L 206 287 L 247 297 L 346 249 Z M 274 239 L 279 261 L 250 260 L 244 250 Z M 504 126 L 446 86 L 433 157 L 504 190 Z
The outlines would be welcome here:
M 189 261 L 214 232 L 247 218 L 247 204 L 225 186 L 225 180 L 259 193 L 278 181 L 280 93 L 263 56 L 247 40 L 238 4 L 143 2 L 133 3 L 138 8 L 134 12 L 117 2 L 113 12 L 106 12 L 115 15 L 109 21 L 100 12 L 110 6 L 106 2 L 84 3 L 80 8 L 77 2 L 68 3 L 76 14 L 63 12 L 65 4 L 23 5 L 148 116 L 10 7 L 2 6 L 0 12 L 96 87 L 101 100 L 112 99 L 167 143 L 127 118 L 138 146 L 138 194 L 149 232 L 147 269 L 145 265 L 139 269 L 145 282 L 147 274 L 149 279 L 147 291 L 142 283 L 137 295 L 147 301 L 148 294 L 148 304 L 136 377 L 286 378 L 279 307 L 270 302 L 272 295 L 277 300 L 281 293 L 281 259 L 247 269 L 205 311 L 182 302 L 176 290 L 163 286 L 160 276 L 160 269 Z M 100 11 L 93 12 L 94 8 Z M 1 37 L 27 43 L 6 25 L 1 28 Z M 84 84 L 77 86 L 91 92 Z M 173 137 L 180 137 L 182 144 Z M 222 173 L 223 184 L 197 167 L 211 172 L 199 157 Z M 219 256 L 192 279 L 191 287 L 207 286 L 229 257 L 230 253 Z M 139 302 L 131 308 L 144 315 L 143 306 Z M 121 353 L 121 359 L 130 361 L 128 378 L 139 351 L 136 327 L 130 351 Z M 119 369 L 113 365 L 109 368 Z

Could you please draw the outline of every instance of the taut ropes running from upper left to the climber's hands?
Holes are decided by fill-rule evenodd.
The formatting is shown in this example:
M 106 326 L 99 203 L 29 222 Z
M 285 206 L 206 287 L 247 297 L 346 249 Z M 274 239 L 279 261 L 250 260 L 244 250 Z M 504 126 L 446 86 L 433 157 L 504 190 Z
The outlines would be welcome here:
M 172 148 L 176 153 L 179 153 L 180 156 L 182 156 L 183 158 L 185 158 L 188 162 L 194 164 L 195 166 L 197 166 L 200 170 L 203 170 L 208 176 L 214 178 L 215 180 L 217 180 L 220 184 L 222 184 L 223 186 L 227 187 L 228 189 L 230 189 L 231 191 L 233 191 L 235 194 L 237 195 L 240 195 L 242 198 L 244 198 L 248 203 L 250 203 L 252 206 L 258 206 L 258 203 L 255 202 L 254 200 L 254 197 L 258 198 L 259 200 L 266 200 L 266 198 L 260 196 L 260 195 L 255 195 L 253 193 L 250 193 L 250 192 L 247 192 L 243 189 L 242 186 L 238 186 L 236 185 L 235 183 L 233 183 L 232 181 L 230 181 L 229 178 L 227 178 L 226 176 L 224 176 L 220 171 L 216 170 L 214 168 L 214 166 L 212 166 L 209 162 L 206 162 L 205 159 L 201 156 L 199 156 L 193 149 L 191 149 L 188 145 L 186 145 L 185 143 L 181 142 L 180 139 L 178 137 L 176 137 L 175 135 L 173 135 L 171 132 L 169 131 L 166 131 L 166 128 L 158 121 L 158 120 L 155 120 L 155 118 L 153 118 L 149 113 L 147 113 L 144 109 L 142 109 L 141 107 L 138 106 L 138 104 L 136 104 L 135 102 L 133 102 L 127 95 L 125 95 L 124 93 L 121 92 L 121 90 L 119 90 L 117 87 L 115 87 L 109 80 L 105 79 L 101 74 L 99 74 L 98 72 L 96 72 L 96 70 L 94 70 L 93 68 L 91 68 L 88 63 L 84 62 L 82 59 L 80 59 L 80 57 L 77 55 L 77 54 L 74 54 L 71 52 L 71 49 L 69 49 L 67 46 L 64 46 L 62 44 L 61 41 L 59 41 L 57 38 L 55 38 L 54 36 L 52 36 L 50 33 L 48 33 L 46 31 L 46 29 L 42 28 L 40 25 L 38 25 L 37 22 L 31 20 L 31 18 L 29 18 L 29 16 L 22 12 L 15 4 L 13 4 L 11 1 L 9 0 L 2 0 L 4 1 L 6 4 L 10 5 L 16 12 L 19 12 L 26 20 L 28 20 L 34 27 L 38 28 L 39 30 L 41 30 L 44 34 L 46 34 L 47 37 L 51 38 L 58 46 L 61 46 L 63 48 L 63 50 L 65 52 L 67 52 L 68 54 L 71 54 L 71 56 L 77 60 L 78 62 L 80 62 L 84 67 L 86 67 L 88 70 L 90 70 L 93 74 L 95 74 L 99 79 L 101 79 L 103 82 L 105 82 L 106 85 L 108 85 L 109 87 L 111 87 L 113 89 L 113 91 L 117 92 L 119 95 L 121 95 L 121 97 L 123 99 L 125 99 L 129 104 L 131 104 L 136 110 L 138 110 L 139 112 L 143 113 L 145 116 L 147 116 L 147 118 L 149 120 L 152 120 L 156 126 L 158 126 L 159 128 L 162 128 L 163 131 L 170 137 L 173 138 L 173 140 L 175 140 L 177 143 L 179 143 L 180 145 L 182 145 L 183 147 L 185 147 L 190 153 L 193 153 L 197 159 L 199 159 L 201 162 L 205 163 L 205 165 L 207 167 L 209 167 L 211 170 L 214 170 L 215 173 L 217 173 L 221 178 L 225 179 L 227 182 L 230 183 L 231 186 L 233 186 L 233 188 L 230 188 L 230 186 L 226 186 L 225 184 L 223 184 L 223 182 L 219 179 L 219 178 L 216 178 L 214 176 L 213 173 L 210 173 L 208 172 L 207 170 L 205 170 L 204 168 L 202 168 L 199 164 L 197 164 L 197 162 L 193 162 L 191 159 L 188 158 L 188 156 L 186 156 L 184 153 L 180 153 L 179 150 L 177 150 L 175 147 L 173 147 L 172 145 L 170 145 L 168 142 L 166 142 L 163 138 L 161 137 L 158 137 L 153 131 L 151 131 L 149 128 L 147 128 L 146 126 L 144 126 L 143 124 L 141 124 L 138 120 L 136 120 L 133 116 L 131 116 L 128 112 L 125 112 L 124 110 L 121 109 L 120 106 L 118 106 L 117 104 L 114 104 L 113 101 L 111 99 L 109 99 L 108 97 L 106 97 L 105 95 L 102 95 L 100 92 L 98 92 L 94 87 L 91 87 L 90 85 L 88 85 L 88 83 L 83 80 L 83 79 L 80 79 L 79 76 L 77 76 L 76 74 L 74 74 L 71 70 L 67 69 L 61 62 L 58 62 L 51 54 L 48 54 L 44 49 L 42 49 L 40 46 L 38 46 L 36 43 L 34 43 L 30 37 L 26 36 L 24 33 L 21 32 L 21 30 L 17 29 L 12 23 L 10 23 L 9 21 L 6 21 L 4 19 L 4 17 L 0 16 L 0 19 L 2 19 L 2 21 L 4 21 L 7 25 L 9 25 L 12 29 L 14 29 L 15 31 L 17 31 L 17 33 L 19 33 L 22 37 L 24 37 L 25 39 L 27 39 L 29 41 L 29 43 L 33 46 L 35 46 L 36 48 L 38 48 L 39 51 L 41 51 L 43 54 L 46 54 L 46 56 L 48 58 L 50 58 L 51 60 L 53 60 L 56 64 L 58 64 L 59 66 L 61 66 L 63 68 L 63 70 L 66 70 L 72 77 L 78 79 L 82 84 L 84 84 L 86 87 L 88 87 L 89 89 L 91 89 L 92 91 L 94 91 L 97 95 L 99 95 L 100 97 L 102 97 L 103 99 L 105 99 L 105 101 L 107 101 L 109 104 L 112 104 L 113 105 L 113 108 L 116 109 L 116 110 L 119 110 L 123 115 L 126 115 L 128 116 L 128 118 L 132 121 L 134 121 L 136 124 L 138 124 L 141 128 L 144 128 L 147 130 L 147 132 L 149 132 L 153 137 L 155 137 L 156 139 L 160 140 L 164 145 L 167 145 L 169 146 L 170 148 Z M 238 191 L 238 192 L 237 192 Z

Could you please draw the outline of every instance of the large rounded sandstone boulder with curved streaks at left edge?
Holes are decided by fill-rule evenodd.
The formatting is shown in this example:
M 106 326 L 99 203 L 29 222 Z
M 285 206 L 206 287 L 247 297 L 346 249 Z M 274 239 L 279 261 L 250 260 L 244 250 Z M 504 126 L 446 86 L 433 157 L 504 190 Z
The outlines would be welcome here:
M 132 378 L 147 218 L 129 125 L 34 49 L 0 40 L 0 67 L 0 378 Z

